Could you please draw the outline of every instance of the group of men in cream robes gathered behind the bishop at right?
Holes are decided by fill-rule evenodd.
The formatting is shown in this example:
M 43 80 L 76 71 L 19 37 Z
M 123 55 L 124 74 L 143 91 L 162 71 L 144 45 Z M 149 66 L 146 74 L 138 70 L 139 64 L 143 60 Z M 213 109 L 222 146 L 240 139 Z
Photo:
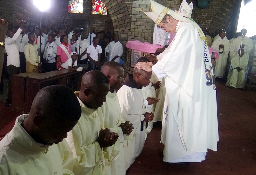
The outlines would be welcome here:
M 247 30 L 242 29 L 228 40 L 226 31 L 220 29 L 209 46 L 220 56 L 213 64 L 214 78 L 226 81 L 229 88 L 245 89 L 249 60 L 256 54 L 255 36 L 248 38 L 246 33 Z

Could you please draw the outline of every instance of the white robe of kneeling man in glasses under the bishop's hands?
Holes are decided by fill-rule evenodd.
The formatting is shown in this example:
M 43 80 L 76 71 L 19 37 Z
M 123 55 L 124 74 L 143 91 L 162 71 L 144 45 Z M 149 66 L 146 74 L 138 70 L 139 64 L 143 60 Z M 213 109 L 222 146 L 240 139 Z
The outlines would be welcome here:
M 132 78 L 132 75 L 128 75 L 125 79 Z M 125 84 L 124 82 L 124 84 Z M 132 141 L 124 141 L 124 162 L 125 169 L 134 163 L 135 159 L 140 155 L 145 142 L 145 104 L 142 94 L 142 88 L 131 88 L 123 85 L 123 87 L 117 91 L 118 100 L 121 107 L 121 115 L 125 121 L 130 121 L 134 129 L 132 130 Z M 141 131 L 142 130 L 142 131 Z

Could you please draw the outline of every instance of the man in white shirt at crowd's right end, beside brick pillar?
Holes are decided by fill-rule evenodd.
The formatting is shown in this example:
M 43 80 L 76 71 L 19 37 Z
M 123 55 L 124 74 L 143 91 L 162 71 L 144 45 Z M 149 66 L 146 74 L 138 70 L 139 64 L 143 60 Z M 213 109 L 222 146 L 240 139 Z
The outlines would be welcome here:
M 123 45 L 119 42 L 118 34 L 115 35 L 114 39 L 115 41 L 109 43 L 106 57 L 108 57 L 109 54 L 108 61 L 115 61 L 116 63 L 119 63 L 120 57 L 123 55 Z

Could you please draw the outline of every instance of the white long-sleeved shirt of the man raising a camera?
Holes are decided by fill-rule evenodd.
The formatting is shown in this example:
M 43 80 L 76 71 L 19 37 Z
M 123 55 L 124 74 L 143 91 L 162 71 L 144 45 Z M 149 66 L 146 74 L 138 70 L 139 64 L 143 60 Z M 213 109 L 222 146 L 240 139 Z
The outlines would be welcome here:
M 22 29 L 19 28 L 17 32 L 13 35 L 12 38 L 7 37 L 5 38 L 5 50 L 7 53 L 7 65 L 14 65 L 16 67 L 20 67 L 20 54 L 19 54 L 19 48 L 17 44 L 15 43 L 16 40 L 18 40 L 18 37 L 20 36 Z

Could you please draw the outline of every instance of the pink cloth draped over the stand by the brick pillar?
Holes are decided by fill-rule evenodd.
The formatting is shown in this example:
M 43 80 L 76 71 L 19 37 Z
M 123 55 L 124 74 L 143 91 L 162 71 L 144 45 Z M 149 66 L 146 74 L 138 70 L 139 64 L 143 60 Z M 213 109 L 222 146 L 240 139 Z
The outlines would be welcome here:
M 128 41 L 125 47 L 127 47 L 128 49 L 134 49 L 141 52 L 155 53 L 156 49 L 162 48 L 163 46 L 160 46 L 158 44 L 149 44 L 148 42 L 143 43 L 136 40 L 136 41 Z

